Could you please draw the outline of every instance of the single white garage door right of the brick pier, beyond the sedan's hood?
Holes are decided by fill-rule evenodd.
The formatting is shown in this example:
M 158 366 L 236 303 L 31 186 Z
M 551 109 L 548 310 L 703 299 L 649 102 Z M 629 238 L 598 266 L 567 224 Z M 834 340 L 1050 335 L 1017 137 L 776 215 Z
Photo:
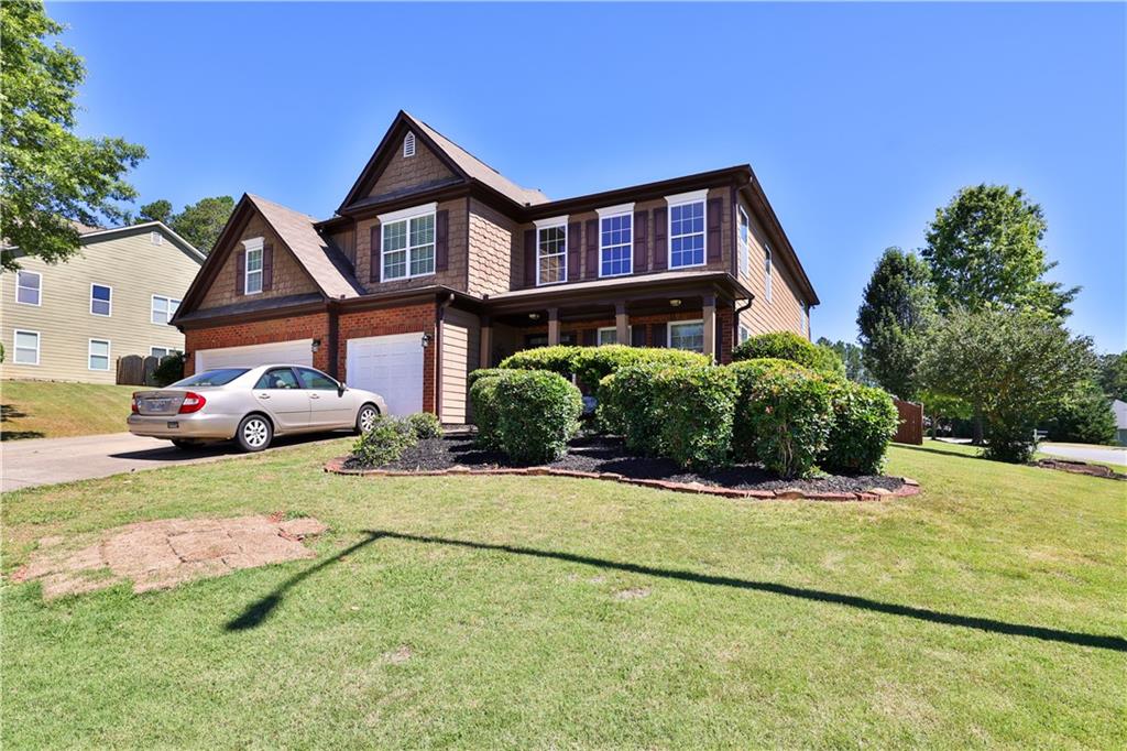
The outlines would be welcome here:
M 348 339 L 345 382 L 375 391 L 392 415 L 423 412 L 423 332 Z

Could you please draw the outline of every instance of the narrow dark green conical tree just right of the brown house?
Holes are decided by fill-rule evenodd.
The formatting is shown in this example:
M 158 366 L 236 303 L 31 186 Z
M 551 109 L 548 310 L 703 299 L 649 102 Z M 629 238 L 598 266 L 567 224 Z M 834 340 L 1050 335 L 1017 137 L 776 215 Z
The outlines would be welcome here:
M 915 254 L 888 248 L 864 288 L 857 325 L 869 374 L 902 399 L 920 391 L 920 357 L 935 318 L 930 274 Z

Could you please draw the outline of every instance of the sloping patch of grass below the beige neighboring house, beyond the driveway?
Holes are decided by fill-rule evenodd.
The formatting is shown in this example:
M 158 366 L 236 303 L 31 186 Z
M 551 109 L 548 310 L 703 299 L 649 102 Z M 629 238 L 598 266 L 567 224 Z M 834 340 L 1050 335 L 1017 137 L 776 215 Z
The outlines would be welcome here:
M 0 381 L 0 440 L 121 433 L 137 386 Z

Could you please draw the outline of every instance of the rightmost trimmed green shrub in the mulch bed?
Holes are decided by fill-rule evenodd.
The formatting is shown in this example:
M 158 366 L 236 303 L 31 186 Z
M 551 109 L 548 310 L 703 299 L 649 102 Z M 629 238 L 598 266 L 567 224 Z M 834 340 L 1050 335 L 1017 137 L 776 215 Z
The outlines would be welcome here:
M 882 389 L 845 380 L 831 382 L 829 392 L 834 419 L 818 463 L 851 475 L 880 474 L 899 423 L 893 398 Z

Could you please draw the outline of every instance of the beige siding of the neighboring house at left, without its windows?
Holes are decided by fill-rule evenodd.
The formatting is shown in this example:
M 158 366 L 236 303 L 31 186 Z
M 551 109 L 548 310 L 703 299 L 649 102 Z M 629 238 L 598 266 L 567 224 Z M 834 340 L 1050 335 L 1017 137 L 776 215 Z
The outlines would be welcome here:
M 0 274 L 0 329 L 5 363 L 0 377 L 113 383 L 117 359 L 148 355 L 151 347 L 184 350 L 184 335 L 151 323 L 152 295 L 183 299 L 199 264 L 168 236 L 153 245 L 150 231 L 90 238 L 62 264 L 34 257 L 20 266 L 42 275 L 41 306 L 16 303 L 16 274 Z M 90 312 L 90 285 L 113 288 L 110 316 Z M 15 363 L 16 330 L 39 333 L 39 364 Z M 89 369 L 90 339 L 109 342 L 109 370 Z

